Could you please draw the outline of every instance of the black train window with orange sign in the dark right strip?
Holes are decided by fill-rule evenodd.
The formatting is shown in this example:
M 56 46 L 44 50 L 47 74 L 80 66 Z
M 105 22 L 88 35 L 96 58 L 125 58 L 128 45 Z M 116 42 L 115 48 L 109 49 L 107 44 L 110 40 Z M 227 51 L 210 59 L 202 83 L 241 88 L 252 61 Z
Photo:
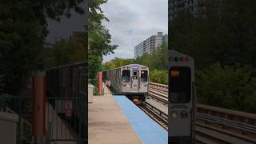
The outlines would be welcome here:
M 191 70 L 189 67 L 172 67 L 169 76 L 170 102 L 188 103 L 191 97 Z

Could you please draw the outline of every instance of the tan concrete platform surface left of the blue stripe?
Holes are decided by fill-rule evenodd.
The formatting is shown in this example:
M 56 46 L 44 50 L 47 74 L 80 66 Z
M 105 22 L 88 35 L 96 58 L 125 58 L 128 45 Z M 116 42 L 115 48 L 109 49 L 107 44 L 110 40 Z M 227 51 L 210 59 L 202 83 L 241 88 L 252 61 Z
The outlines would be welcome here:
M 88 110 L 90 144 L 142 143 L 112 95 L 94 96 Z

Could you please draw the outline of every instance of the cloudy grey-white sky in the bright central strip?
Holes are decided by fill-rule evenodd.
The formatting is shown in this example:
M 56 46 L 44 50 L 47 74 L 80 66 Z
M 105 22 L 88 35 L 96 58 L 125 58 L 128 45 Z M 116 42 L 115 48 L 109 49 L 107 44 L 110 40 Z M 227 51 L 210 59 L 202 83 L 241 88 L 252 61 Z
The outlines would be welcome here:
M 134 46 L 151 35 L 168 32 L 168 0 L 108 0 L 102 10 L 110 22 L 112 44 L 118 45 L 114 54 L 103 58 L 134 58 Z

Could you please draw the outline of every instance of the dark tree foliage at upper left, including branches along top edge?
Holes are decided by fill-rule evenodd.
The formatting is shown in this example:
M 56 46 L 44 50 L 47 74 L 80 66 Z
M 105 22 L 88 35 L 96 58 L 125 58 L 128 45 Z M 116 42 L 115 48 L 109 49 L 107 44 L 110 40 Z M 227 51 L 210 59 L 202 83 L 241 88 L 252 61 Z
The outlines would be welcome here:
M 72 1 L 1 0 L 0 74 L 5 75 L 5 93 L 17 94 L 27 85 L 31 71 L 38 67 L 38 55 L 47 35 L 46 18 L 59 20 L 70 9 L 83 13 Z

